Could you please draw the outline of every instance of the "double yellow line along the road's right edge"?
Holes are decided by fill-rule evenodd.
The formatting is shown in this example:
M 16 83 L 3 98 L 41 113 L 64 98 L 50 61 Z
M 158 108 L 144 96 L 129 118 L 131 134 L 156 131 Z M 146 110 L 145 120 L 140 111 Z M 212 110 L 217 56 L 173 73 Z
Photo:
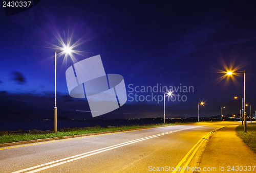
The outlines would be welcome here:
M 185 155 L 185 157 L 178 163 L 178 165 L 175 167 L 175 170 L 172 171 L 172 173 L 176 173 L 177 171 L 179 171 L 181 165 L 186 161 L 187 157 L 193 152 L 193 153 L 190 155 L 190 157 L 187 159 L 186 163 L 183 165 L 183 166 L 185 166 L 185 167 L 187 168 L 187 165 L 188 165 L 188 164 L 190 163 L 190 161 L 193 159 L 193 157 L 195 156 L 195 154 L 196 154 L 196 152 L 198 151 L 199 147 L 203 144 L 204 139 L 205 139 L 205 138 L 208 138 L 211 134 L 215 133 L 216 131 L 218 131 L 218 130 L 224 128 L 224 127 L 226 127 L 226 126 L 223 126 L 223 127 L 221 127 L 221 128 L 215 129 L 215 130 L 213 130 L 213 131 L 207 133 L 205 136 L 203 136 L 203 137 L 189 150 L 189 152 L 187 152 L 187 154 Z M 196 148 L 196 149 L 195 149 L 195 148 Z M 195 150 L 194 150 L 194 149 L 195 149 Z M 182 166 L 182 167 L 183 167 L 183 166 Z M 185 171 L 185 170 L 182 169 L 182 170 L 180 171 L 180 173 L 183 173 L 184 171 Z

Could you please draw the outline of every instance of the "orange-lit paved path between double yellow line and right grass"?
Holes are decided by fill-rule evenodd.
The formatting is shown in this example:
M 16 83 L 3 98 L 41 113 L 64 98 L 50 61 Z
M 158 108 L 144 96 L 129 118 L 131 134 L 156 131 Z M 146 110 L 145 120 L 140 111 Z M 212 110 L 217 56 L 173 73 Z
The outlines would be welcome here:
M 230 172 L 233 171 L 231 170 L 233 166 L 234 170 L 236 166 L 243 166 L 244 169 L 255 166 L 256 154 L 237 136 L 236 127 L 237 125 L 225 127 L 211 136 L 200 157 L 201 169 L 216 167 L 215 172 Z M 228 168 L 230 168 L 229 171 Z M 201 170 L 200 172 L 209 171 Z

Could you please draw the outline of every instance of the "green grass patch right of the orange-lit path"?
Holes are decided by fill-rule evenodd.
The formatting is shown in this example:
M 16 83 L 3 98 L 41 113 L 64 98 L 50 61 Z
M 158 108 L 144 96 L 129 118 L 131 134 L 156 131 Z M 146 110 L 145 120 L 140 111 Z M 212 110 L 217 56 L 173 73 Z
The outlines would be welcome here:
M 256 123 L 247 123 L 247 133 L 244 133 L 244 126 L 236 128 L 238 136 L 256 153 Z

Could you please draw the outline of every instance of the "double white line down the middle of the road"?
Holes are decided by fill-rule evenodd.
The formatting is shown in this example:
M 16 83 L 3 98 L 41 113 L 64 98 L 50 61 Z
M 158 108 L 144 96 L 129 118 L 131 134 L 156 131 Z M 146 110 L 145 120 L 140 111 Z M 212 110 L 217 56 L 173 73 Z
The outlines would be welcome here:
M 207 125 L 205 125 L 205 126 L 207 126 Z M 183 131 L 183 130 L 198 128 L 198 127 L 203 127 L 203 126 L 195 126 L 195 127 L 185 128 L 185 129 L 173 130 L 173 131 L 164 132 L 164 133 L 160 133 L 160 134 L 156 134 L 156 135 L 152 135 L 152 136 L 148 136 L 148 137 L 144 137 L 144 138 L 140 138 L 140 139 L 135 139 L 135 140 L 132 140 L 132 141 L 123 142 L 123 143 L 120 143 L 120 144 L 104 147 L 102 149 L 94 150 L 94 151 L 91 151 L 91 152 L 86 152 L 86 153 L 82 153 L 82 154 L 79 154 L 79 155 L 75 155 L 75 156 L 63 158 L 63 159 L 60 159 L 60 160 L 55 160 L 55 161 L 52 161 L 52 162 L 48 162 L 48 163 L 40 164 L 40 165 L 37 165 L 37 166 L 29 167 L 29 168 L 26 168 L 26 169 L 14 171 L 12 173 L 19 173 L 19 172 L 24 172 L 24 171 L 28 171 L 28 170 L 38 168 L 38 169 L 35 169 L 35 170 L 32 170 L 32 171 L 29 171 L 29 172 L 37 172 L 37 171 L 44 170 L 44 169 L 47 169 L 47 168 L 50 168 L 50 167 L 65 164 L 65 163 L 68 163 L 68 162 L 71 162 L 71 161 L 74 161 L 74 160 L 77 160 L 77 159 L 81 159 L 81 158 L 85 158 L 85 157 L 88 157 L 88 156 L 99 154 L 99 153 L 102 153 L 102 152 L 105 152 L 105 151 L 113 150 L 113 149 L 116 149 L 116 148 L 121 147 L 121 146 L 130 145 L 132 143 L 136 143 L 136 142 L 140 142 L 140 141 L 143 141 L 143 140 L 155 138 L 155 137 L 158 137 L 158 136 L 162 136 L 162 135 L 166 135 L 166 134 L 170 134 L 170 133 L 174 133 L 174 132 L 179 132 L 179 131 Z M 59 162 L 59 163 L 57 163 L 57 162 Z M 47 165 L 49 165 L 49 166 L 47 166 Z M 46 167 L 42 167 L 42 166 L 46 166 Z M 42 167 L 42 168 L 39 168 L 39 167 Z

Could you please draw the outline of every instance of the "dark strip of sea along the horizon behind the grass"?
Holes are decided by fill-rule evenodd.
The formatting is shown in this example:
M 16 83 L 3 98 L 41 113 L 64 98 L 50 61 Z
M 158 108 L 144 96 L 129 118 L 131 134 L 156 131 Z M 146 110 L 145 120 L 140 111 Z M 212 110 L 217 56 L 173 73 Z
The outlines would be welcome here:
M 170 122 L 193 122 L 192 119 L 166 119 L 166 123 Z M 132 125 L 150 125 L 154 123 L 163 123 L 163 119 L 97 119 L 97 120 L 58 120 L 59 128 L 75 128 L 75 127 L 94 127 L 94 126 L 132 126 Z M 4 130 L 51 130 L 54 128 L 54 120 L 0 120 L 0 131 Z

